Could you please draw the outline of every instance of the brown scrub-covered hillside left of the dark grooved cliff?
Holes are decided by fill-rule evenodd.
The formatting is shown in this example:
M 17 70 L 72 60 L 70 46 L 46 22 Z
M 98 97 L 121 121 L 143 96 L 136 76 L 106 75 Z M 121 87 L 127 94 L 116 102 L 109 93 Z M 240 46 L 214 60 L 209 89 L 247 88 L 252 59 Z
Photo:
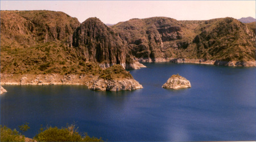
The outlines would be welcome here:
M 71 73 L 82 61 L 67 41 L 79 25 L 63 12 L 1 11 L 1 73 Z

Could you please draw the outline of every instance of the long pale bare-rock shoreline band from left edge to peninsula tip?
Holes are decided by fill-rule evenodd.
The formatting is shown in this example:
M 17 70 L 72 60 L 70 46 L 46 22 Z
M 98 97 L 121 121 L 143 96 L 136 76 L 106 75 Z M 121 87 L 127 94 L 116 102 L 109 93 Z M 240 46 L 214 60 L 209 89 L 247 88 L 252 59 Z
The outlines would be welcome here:
M 16 75 L 1 74 L 4 85 L 86 85 L 94 91 L 121 91 L 143 88 L 135 79 L 105 80 L 93 75 Z M 2 87 L 1 87 L 2 92 Z

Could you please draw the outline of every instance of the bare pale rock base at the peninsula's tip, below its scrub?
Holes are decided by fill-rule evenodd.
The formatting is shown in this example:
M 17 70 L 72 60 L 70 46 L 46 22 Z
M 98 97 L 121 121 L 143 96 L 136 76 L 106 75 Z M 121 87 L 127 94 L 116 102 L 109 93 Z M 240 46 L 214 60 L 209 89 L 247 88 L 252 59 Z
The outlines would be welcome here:
M 94 91 L 131 91 L 143 87 L 134 79 L 105 80 L 98 78 L 90 81 L 88 88 Z

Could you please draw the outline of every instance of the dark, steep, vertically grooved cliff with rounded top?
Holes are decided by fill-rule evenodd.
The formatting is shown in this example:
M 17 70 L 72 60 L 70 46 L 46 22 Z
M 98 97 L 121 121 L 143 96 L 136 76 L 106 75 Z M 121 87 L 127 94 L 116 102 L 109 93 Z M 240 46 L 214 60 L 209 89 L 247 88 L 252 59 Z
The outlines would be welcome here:
M 121 38 L 100 19 L 85 20 L 73 34 L 72 46 L 77 54 L 89 62 L 100 63 L 101 67 L 121 64 L 124 68 L 137 69 L 142 64 L 134 61 Z M 137 63 L 137 64 L 136 64 Z

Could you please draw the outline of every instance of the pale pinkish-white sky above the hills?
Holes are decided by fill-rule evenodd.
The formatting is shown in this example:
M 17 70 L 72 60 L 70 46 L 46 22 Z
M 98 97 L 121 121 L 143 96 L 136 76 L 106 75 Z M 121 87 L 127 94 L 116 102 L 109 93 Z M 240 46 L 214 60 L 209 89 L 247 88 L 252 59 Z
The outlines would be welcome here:
M 255 1 L 0 1 L 1 10 L 63 11 L 81 23 L 97 17 L 105 24 L 166 16 L 177 20 L 255 18 Z

